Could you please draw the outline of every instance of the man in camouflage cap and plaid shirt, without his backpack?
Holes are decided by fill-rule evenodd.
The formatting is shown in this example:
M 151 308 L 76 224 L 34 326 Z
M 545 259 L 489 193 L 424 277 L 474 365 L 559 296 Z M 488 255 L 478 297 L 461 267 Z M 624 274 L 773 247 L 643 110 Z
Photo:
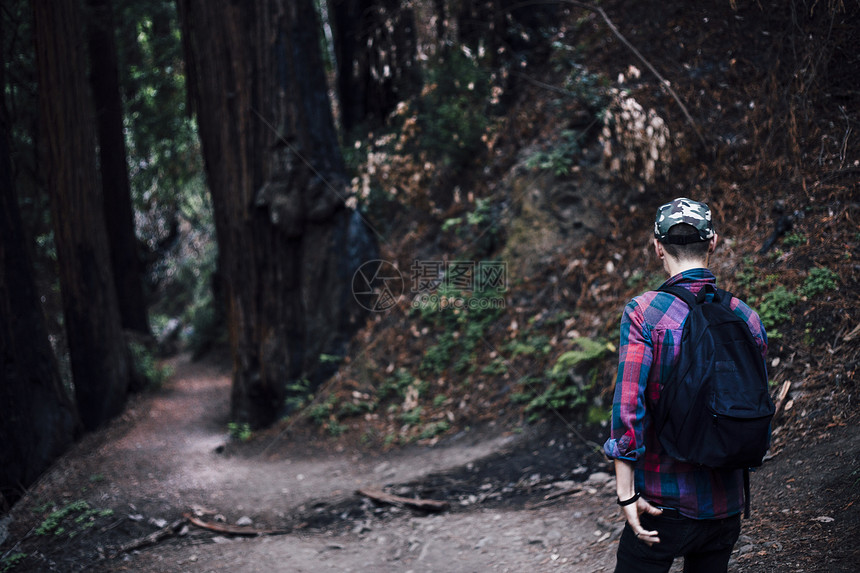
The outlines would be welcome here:
M 654 252 L 669 275 L 666 286 L 694 294 L 716 278 L 708 270 L 717 246 L 711 211 L 679 198 L 661 206 Z M 767 354 L 759 316 L 733 298 L 731 308 Z M 621 318 L 612 430 L 604 445 L 615 460 L 618 504 L 627 520 L 618 545 L 616 573 L 666 572 L 684 557 L 685 573 L 725 573 L 740 534 L 743 470 L 715 470 L 675 460 L 663 451 L 651 423 L 662 377 L 677 363 L 689 307 L 665 292 L 631 300 Z

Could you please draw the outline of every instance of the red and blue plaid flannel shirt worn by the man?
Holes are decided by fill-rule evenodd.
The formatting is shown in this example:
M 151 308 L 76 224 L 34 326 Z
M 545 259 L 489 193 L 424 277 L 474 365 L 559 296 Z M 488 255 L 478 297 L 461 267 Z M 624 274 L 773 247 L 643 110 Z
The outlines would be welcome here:
M 714 275 L 701 268 L 675 275 L 666 285 L 697 293 L 705 284 L 715 283 Z M 731 307 L 749 326 L 765 360 L 767 334 L 758 314 L 737 298 L 732 299 Z M 636 490 L 650 503 L 676 508 L 693 519 L 719 519 L 743 509 L 743 471 L 712 470 L 666 455 L 646 406 L 659 398 L 661 379 L 678 362 L 688 314 L 682 300 L 657 291 L 635 297 L 625 307 L 612 428 L 603 449 L 611 459 L 635 463 Z

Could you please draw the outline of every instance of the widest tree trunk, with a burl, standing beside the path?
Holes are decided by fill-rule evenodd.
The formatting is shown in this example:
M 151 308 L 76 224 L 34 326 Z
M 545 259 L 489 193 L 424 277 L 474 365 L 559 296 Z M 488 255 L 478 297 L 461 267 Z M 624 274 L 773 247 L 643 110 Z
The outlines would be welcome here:
M 312 0 L 179 0 L 234 360 L 232 417 L 261 427 L 331 374 L 375 244 L 345 207 Z M 328 366 L 331 368 L 331 366 Z

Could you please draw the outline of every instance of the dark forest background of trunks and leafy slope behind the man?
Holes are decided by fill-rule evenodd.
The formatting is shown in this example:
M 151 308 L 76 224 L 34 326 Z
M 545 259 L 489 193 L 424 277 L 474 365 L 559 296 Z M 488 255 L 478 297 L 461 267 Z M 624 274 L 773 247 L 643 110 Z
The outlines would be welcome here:
M 858 14 L 4 2 L 0 505 L 180 351 L 230 363 L 237 437 L 599 426 L 616 315 L 659 284 L 643 249 L 674 196 L 718 214 L 717 274 L 765 319 L 775 393 L 852 396 Z M 404 294 L 416 261 L 446 263 L 435 302 L 357 304 L 376 259 Z M 447 280 L 457 260 L 503 262 L 501 290 Z

